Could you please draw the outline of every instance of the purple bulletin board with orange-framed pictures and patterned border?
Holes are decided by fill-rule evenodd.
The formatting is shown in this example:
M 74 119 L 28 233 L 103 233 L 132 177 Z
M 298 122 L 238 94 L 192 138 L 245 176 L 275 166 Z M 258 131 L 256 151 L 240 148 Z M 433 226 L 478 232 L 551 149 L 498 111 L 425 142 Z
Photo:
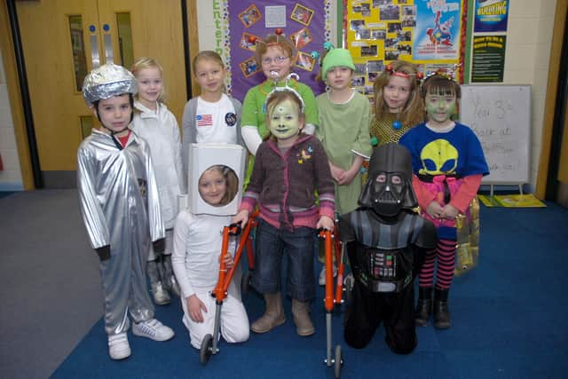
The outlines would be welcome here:
M 323 84 L 316 80 L 319 62 L 312 57 L 312 51 L 321 51 L 323 43 L 330 39 L 331 3 L 332 0 L 225 0 L 228 22 L 223 52 L 231 72 L 227 90 L 233 97 L 242 101 L 248 89 L 266 80 L 255 59 L 254 41 L 275 34 L 277 29 L 296 46 L 292 71 L 299 75 L 300 82 L 312 87 L 316 94 L 323 91 Z

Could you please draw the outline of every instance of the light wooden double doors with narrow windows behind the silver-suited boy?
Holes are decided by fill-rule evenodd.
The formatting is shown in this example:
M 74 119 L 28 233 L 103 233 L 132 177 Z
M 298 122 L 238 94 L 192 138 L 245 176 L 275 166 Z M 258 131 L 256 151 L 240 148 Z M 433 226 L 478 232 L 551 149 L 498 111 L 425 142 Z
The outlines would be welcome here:
M 179 0 L 17 2 L 39 162 L 46 187 L 75 186 L 76 150 L 98 121 L 83 101 L 83 78 L 142 56 L 164 69 L 178 121 L 186 101 Z

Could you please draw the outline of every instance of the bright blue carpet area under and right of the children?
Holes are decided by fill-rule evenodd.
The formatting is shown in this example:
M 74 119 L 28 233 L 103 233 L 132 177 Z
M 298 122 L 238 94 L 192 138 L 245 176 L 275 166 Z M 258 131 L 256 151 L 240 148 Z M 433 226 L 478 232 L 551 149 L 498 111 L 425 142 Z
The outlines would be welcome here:
M 481 209 L 480 265 L 455 278 L 450 294 L 453 327 L 418 328 L 413 354 L 398 356 L 383 329 L 366 349 L 344 343 L 343 311 L 333 317 L 334 345 L 341 344 L 344 378 L 562 378 L 568 371 L 568 298 L 564 288 L 568 210 Z M 319 268 L 319 267 L 318 267 Z M 287 323 L 247 343 L 219 344 L 207 366 L 189 344 L 179 303 L 157 309 L 176 336 L 157 343 L 129 334 L 132 355 L 108 358 L 102 320 L 53 373 L 53 378 L 332 378 L 323 364 L 326 334 L 323 289 L 312 305 L 317 333 L 296 336 Z M 177 300 L 177 299 L 176 299 Z M 263 312 L 254 293 L 245 300 L 250 320 Z

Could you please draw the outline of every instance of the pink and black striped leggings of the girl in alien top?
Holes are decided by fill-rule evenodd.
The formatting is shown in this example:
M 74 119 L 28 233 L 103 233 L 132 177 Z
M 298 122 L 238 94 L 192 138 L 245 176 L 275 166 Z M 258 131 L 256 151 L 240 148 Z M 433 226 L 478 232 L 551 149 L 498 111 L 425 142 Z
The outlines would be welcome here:
M 424 264 L 419 275 L 420 287 L 432 287 L 434 284 L 434 261 L 438 257 L 436 288 L 447 289 L 452 286 L 455 265 L 455 241 L 438 240 L 436 249 L 430 250 L 424 257 Z

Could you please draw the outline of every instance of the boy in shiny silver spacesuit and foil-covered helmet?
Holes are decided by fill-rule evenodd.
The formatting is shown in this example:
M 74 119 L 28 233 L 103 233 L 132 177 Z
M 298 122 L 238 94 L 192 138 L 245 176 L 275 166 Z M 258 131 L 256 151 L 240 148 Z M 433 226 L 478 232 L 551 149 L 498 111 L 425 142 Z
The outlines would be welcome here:
M 164 249 L 164 226 L 149 147 L 129 129 L 136 79 L 124 67 L 95 68 L 83 98 L 99 118 L 77 151 L 77 188 L 91 246 L 100 258 L 105 331 L 112 359 L 130 356 L 127 331 L 166 341 L 173 330 L 154 319 L 146 290 L 150 243 Z M 154 241 L 154 242 L 153 242 Z

